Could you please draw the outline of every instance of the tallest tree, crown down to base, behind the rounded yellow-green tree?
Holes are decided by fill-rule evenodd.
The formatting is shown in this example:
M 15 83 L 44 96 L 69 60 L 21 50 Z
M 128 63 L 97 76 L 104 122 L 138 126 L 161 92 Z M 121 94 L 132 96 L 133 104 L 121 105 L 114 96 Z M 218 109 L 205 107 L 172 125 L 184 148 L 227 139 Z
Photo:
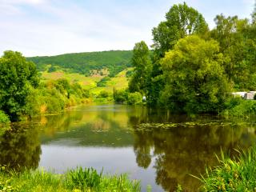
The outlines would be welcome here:
M 147 101 L 151 106 L 158 104 L 159 93 L 166 84 L 162 78 L 160 58 L 165 56 L 166 51 L 172 50 L 179 39 L 191 34 L 206 37 L 208 25 L 202 14 L 193 7 L 183 4 L 174 5 L 166 13 L 166 21 L 160 22 L 152 30 L 153 34 L 153 70 L 147 91 Z

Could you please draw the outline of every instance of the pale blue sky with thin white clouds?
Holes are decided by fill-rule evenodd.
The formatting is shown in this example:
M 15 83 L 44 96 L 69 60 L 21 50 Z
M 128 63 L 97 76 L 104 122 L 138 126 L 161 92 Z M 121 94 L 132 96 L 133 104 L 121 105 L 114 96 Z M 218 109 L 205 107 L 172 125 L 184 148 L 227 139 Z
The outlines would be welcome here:
M 26 57 L 132 50 L 152 42 L 151 30 L 184 0 L 0 0 L 0 55 Z M 186 0 L 210 28 L 217 14 L 250 18 L 255 0 Z

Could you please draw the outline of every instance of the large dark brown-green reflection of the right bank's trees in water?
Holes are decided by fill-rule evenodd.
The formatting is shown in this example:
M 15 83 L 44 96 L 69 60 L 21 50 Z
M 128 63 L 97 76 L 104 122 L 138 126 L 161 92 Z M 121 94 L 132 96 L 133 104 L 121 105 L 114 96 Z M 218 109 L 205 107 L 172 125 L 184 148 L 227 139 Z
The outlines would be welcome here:
M 200 183 L 190 174 L 200 177 L 205 173 L 206 166 L 216 166 L 218 161 L 214 154 L 220 154 L 221 148 L 224 152 L 238 148 L 246 130 L 246 126 L 216 123 L 177 126 L 167 130 L 161 127 L 140 129 L 136 125 L 148 122 L 142 117 L 130 118 L 130 123 L 134 125 L 134 153 L 138 166 L 147 168 L 150 165 L 150 149 L 154 149 L 156 182 L 167 191 L 174 191 L 178 184 L 184 190 L 197 191 Z M 161 122 L 162 115 L 159 119 Z M 180 122 L 180 119 L 177 121 Z

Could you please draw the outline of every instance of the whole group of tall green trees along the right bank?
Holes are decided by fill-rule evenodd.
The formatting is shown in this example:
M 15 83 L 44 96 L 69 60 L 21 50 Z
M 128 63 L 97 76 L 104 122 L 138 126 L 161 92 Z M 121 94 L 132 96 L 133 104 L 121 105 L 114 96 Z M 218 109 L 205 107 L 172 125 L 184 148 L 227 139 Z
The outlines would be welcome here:
M 230 102 L 232 91 L 256 90 L 255 10 L 252 22 L 222 14 L 214 22 L 209 30 L 185 2 L 172 6 L 152 30 L 152 53 L 145 42 L 134 46 L 130 92 L 146 94 L 149 106 L 172 113 L 255 113 L 253 102 Z

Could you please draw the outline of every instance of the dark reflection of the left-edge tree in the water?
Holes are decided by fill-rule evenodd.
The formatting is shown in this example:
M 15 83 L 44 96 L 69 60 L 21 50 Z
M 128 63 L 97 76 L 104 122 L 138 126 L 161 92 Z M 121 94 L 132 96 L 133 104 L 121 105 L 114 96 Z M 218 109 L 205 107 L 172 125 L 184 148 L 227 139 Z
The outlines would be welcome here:
M 40 160 L 41 146 L 38 129 L 12 126 L 0 137 L 0 165 L 16 170 L 35 169 Z

